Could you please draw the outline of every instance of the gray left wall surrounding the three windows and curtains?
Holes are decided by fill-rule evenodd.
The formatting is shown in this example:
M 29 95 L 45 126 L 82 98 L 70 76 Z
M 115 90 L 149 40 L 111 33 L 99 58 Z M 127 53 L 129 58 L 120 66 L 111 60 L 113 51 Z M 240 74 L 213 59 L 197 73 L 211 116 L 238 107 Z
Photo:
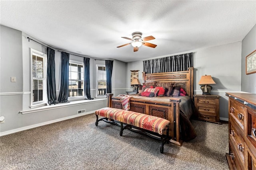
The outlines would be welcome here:
M 106 107 L 106 100 L 94 100 L 92 103 L 83 103 L 76 106 L 63 106 L 44 111 L 33 111 L 21 114 L 20 111 L 30 110 L 30 48 L 46 53 L 46 47 L 28 42 L 26 37 L 36 41 L 34 37 L 21 31 L 0 25 L 1 59 L 0 59 L 0 115 L 5 117 L 5 122 L 0 124 L 0 133 L 8 134 L 48 123 L 77 117 L 77 111 L 86 109 L 86 113 Z M 40 41 L 38 41 L 40 42 Z M 42 42 L 40 42 L 42 43 Z M 59 89 L 60 77 L 60 52 L 55 50 L 56 64 L 56 90 Z M 70 60 L 83 61 L 83 57 L 70 54 Z M 116 62 L 119 65 L 125 63 Z M 126 70 L 124 71 L 126 72 Z M 90 60 L 90 88 L 92 96 L 95 93 L 95 66 L 94 59 Z M 16 82 L 11 82 L 11 76 L 16 77 Z M 117 76 L 118 77 L 118 76 Z M 115 81 L 113 81 L 115 85 Z M 118 88 L 125 86 L 125 81 L 117 83 Z M 88 100 L 87 100 L 88 101 Z M 72 102 L 71 102 L 72 103 Z M 60 104 L 61 105 L 61 104 Z M 0 135 L 1 135 L 0 134 Z

